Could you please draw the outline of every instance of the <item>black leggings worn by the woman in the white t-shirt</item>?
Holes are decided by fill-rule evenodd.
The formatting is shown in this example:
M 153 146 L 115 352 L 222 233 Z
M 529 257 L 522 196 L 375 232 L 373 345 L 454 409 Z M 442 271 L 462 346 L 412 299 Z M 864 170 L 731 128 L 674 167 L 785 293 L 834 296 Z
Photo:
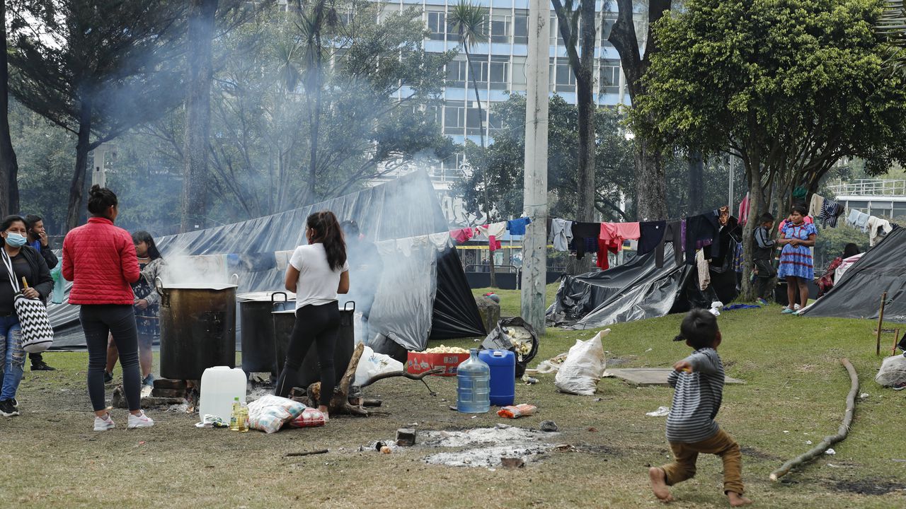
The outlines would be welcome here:
M 299 367 L 305 354 L 318 345 L 318 364 L 321 367 L 321 400 L 327 406 L 333 398 L 333 387 L 336 385 L 336 373 L 333 372 L 333 348 L 340 334 L 340 308 L 336 302 L 319 306 L 307 305 L 295 310 L 293 335 L 286 349 L 284 369 L 277 379 L 275 393 L 286 398 L 293 389 L 292 382 L 299 378 Z

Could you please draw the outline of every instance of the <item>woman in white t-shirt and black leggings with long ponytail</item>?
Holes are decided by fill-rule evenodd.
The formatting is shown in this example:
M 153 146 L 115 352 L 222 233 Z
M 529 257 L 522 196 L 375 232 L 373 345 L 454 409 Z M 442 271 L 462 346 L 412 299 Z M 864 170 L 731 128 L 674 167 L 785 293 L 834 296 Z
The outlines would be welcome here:
M 340 331 L 337 293 L 349 292 L 349 264 L 340 223 L 333 212 L 316 212 L 305 224 L 308 245 L 296 247 L 286 267 L 286 290 L 295 293 L 295 325 L 275 393 L 284 398 L 289 394 L 293 387 L 286 380 L 298 378 L 305 354 L 317 344 L 323 396 L 318 409 L 326 419 L 325 403 L 330 402 L 336 384 L 333 348 Z

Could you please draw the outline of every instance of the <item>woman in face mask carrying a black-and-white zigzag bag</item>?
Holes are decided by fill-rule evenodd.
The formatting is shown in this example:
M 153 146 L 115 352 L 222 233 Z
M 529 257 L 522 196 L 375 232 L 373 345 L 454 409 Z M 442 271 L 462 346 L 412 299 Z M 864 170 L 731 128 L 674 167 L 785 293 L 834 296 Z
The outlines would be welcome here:
M 3 238 L 3 264 L 0 264 L 0 360 L 3 361 L 3 389 L 0 389 L 0 413 L 6 417 L 19 415 L 15 391 L 22 381 L 25 351 L 22 350 L 21 327 L 15 315 L 13 301 L 16 290 L 10 281 L 10 271 L 29 299 L 46 300 L 53 292 L 53 278 L 40 253 L 28 243 L 28 230 L 20 216 L 7 216 L 0 223 Z M 24 288 L 23 279 L 28 283 Z

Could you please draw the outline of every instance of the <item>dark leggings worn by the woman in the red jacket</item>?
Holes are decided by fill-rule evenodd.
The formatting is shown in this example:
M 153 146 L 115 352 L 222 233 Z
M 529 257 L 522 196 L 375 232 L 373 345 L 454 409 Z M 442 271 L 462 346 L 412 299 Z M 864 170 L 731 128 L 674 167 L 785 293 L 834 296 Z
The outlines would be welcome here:
M 131 304 L 82 305 L 79 311 L 85 342 L 88 344 L 88 396 L 94 411 L 107 408 L 104 397 L 104 370 L 107 369 L 107 338 L 113 335 L 120 351 L 122 388 L 129 409 L 141 408 L 139 331 Z

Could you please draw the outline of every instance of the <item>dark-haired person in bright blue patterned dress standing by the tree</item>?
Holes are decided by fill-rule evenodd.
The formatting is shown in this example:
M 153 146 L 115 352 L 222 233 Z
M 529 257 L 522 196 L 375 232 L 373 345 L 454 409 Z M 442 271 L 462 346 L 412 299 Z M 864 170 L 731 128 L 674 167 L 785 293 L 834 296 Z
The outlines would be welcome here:
M 789 300 L 784 313 L 799 311 L 800 305 L 795 303 L 796 290 L 802 305 L 808 303 L 808 282 L 814 279 L 814 262 L 809 248 L 814 245 L 818 230 L 814 224 L 805 223 L 806 214 L 805 206 L 793 206 L 789 221 L 780 232 L 778 244 L 783 246 L 783 250 L 780 252 L 777 276 L 786 279 L 786 297 Z

